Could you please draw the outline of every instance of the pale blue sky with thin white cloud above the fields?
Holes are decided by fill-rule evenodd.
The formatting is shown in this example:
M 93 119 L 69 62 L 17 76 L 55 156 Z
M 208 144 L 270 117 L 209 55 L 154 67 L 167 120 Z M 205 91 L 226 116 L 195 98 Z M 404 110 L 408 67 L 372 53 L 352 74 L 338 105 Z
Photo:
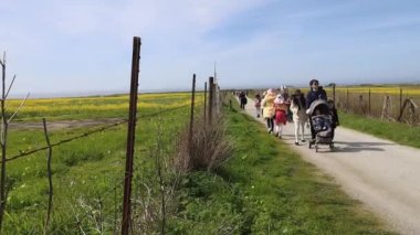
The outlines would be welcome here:
M 0 0 L 13 93 L 420 83 L 418 0 Z

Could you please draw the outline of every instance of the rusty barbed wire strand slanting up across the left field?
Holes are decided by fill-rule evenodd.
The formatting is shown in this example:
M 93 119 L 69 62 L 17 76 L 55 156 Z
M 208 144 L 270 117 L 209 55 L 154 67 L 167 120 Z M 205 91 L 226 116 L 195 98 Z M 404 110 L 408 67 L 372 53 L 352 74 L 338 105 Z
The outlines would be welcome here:
M 199 106 L 199 105 L 202 105 L 202 103 L 197 104 L 197 106 Z M 174 111 L 174 110 L 181 109 L 181 108 L 186 108 L 186 107 L 190 107 L 190 104 L 188 104 L 188 105 L 182 105 L 182 106 L 178 106 L 178 107 L 174 107 L 174 108 L 168 108 L 168 109 L 160 110 L 160 111 L 153 113 L 153 114 L 148 114 L 148 115 L 143 115 L 143 116 L 137 117 L 136 119 L 138 120 L 139 118 L 156 117 L 156 116 L 158 116 L 158 115 L 161 115 L 161 114 L 165 114 L 165 113 L 169 113 L 169 111 Z M 60 140 L 60 141 L 57 141 L 57 142 L 55 142 L 55 143 L 51 143 L 51 146 L 44 146 L 44 147 L 36 148 L 36 149 L 33 149 L 33 150 L 29 150 L 29 151 L 20 151 L 19 154 L 15 154 L 15 156 L 13 156 L 13 157 L 10 157 L 10 158 L 6 159 L 4 162 L 13 161 L 13 160 L 17 160 L 17 159 L 20 159 L 20 158 L 27 157 L 27 156 L 31 156 L 31 154 L 36 153 L 36 152 L 39 152 L 39 151 L 46 150 L 46 149 L 49 149 L 50 147 L 53 148 L 53 147 L 57 147 L 57 146 L 61 146 L 61 145 L 63 145 L 63 143 L 66 143 L 66 142 L 70 142 L 70 141 L 73 141 L 73 140 L 80 139 L 80 138 L 85 138 L 85 137 L 88 137 L 88 136 L 91 136 L 91 135 L 93 135 L 93 133 L 97 133 L 97 132 L 101 132 L 101 131 L 104 131 L 104 130 L 111 129 L 111 128 L 113 128 L 113 127 L 116 127 L 116 126 L 119 126 L 119 125 L 122 125 L 122 124 L 126 124 L 126 122 L 128 122 L 127 119 L 122 120 L 122 121 L 114 122 L 114 124 L 108 125 L 108 126 L 105 126 L 105 127 L 101 127 L 101 128 L 94 129 L 94 130 L 88 131 L 88 132 L 81 133 L 81 135 L 78 135 L 78 136 L 75 136 L 75 137 L 72 137 L 72 138 L 69 138 L 69 139 Z M 0 163 L 2 163 L 2 162 L 3 162 L 3 161 L 1 160 Z

